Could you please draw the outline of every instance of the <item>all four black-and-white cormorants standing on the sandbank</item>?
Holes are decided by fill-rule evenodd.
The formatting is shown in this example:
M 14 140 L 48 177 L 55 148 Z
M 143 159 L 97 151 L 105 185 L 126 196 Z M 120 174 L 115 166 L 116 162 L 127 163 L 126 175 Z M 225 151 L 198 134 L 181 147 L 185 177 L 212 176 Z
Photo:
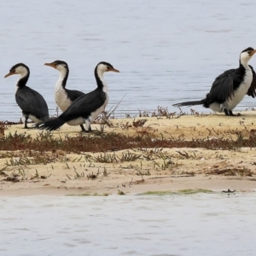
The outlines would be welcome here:
M 232 110 L 241 102 L 244 96 L 256 96 L 256 73 L 248 61 L 253 57 L 256 49 L 248 47 L 241 51 L 239 67 L 230 69 L 220 74 L 213 82 L 212 88 L 207 96 L 200 101 L 181 102 L 173 106 L 203 105 L 215 112 L 224 112 L 226 115 L 234 115 Z M 90 124 L 104 111 L 108 105 L 108 85 L 103 73 L 119 70 L 113 68 L 108 62 L 100 62 L 95 68 L 97 87 L 87 94 L 79 90 L 68 90 L 66 88 L 68 78 L 68 66 L 65 61 L 53 61 L 44 65 L 54 67 L 60 72 L 60 77 L 55 84 L 55 102 L 61 108 L 61 115 L 55 119 L 49 119 L 48 106 L 36 90 L 26 86 L 29 78 L 29 68 L 23 64 L 11 67 L 4 78 L 13 74 L 20 74 L 16 86 L 15 99 L 22 110 L 25 126 L 27 119 L 32 119 L 39 129 L 53 131 L 67 123 L 68 125 L 80 125 L 82 131 L 91 131 Z M 85 128 L 84 128 L 85 124 Z

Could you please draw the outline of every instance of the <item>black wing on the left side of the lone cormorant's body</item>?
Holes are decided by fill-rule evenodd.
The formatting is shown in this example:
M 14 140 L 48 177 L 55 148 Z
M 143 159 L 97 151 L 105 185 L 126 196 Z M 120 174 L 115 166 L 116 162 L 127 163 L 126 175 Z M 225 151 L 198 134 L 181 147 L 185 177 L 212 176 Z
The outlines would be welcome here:
M 237 69 L 230 69 L 220 74 L 212 84 L 207 99 L 212 102 L 224 102 L 234 93 L 234 83 L 239 83 Z

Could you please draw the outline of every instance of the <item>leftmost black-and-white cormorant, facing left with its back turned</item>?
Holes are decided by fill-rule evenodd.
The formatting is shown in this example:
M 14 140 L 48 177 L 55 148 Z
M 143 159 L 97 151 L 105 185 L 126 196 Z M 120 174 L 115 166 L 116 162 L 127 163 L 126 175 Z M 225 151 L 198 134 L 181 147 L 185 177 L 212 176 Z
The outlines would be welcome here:
M 30 75 L 29 68 L 23 63 L 18 63 L 14 67 L 11 67 L 9 73 L 6 74 L 4 78 L 14 74 L 20 74 L 20 79 L 16 84 L 15 99 L 22 110 L 25 124 L 24 128 L 28 129 L 27 119 L 32 119 L 35 123 L 49 120 L 49 110 L 44 97 L 39 94 L 38 91 L 32 90 L 30 87 L 26 86 Z

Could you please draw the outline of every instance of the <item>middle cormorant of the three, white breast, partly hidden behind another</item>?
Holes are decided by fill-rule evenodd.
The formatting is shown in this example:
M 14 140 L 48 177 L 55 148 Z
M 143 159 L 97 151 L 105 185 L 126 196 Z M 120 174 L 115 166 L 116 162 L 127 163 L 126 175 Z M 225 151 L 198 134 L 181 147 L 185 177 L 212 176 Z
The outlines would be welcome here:
M 54 67 L 60 72 L 60 77 L 55 84 L 55 102 L 61 111 L 64 112 L 79 96 L 83 96 L 84 92 L 79 90 L 68 90 L 66 88 L 69 68 L 65 61 L 53 61 L 45 63 L 45 66 Z M 85 131 L 84 125 L 80 125 L 82 131 Z M 90 130 L 90 128 L 89 128 Z

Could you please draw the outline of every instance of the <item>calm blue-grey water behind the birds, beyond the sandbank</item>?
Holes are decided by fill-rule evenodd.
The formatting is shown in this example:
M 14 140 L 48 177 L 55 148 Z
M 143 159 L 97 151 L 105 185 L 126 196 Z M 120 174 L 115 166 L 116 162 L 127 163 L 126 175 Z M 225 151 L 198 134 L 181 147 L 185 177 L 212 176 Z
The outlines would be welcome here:
M 96 87 L 96 64 L 108 61 L 121 72 L 106 75 L 108 109 L 125 96 L 119 115 L 157 106 L 174 111 L 175 102 L 205 96 L 219 73 L 237 67 L 242 49 L 256 47 L 255 9 L 252 0 L 3 1 L 0 73 L 3 78 L 16 63 L 26 63 L 28 85 L 53 115 L 59 74 L 44 62 L 67 61 L 68 88 L 86 92 Z M 250 63 L 255 67 L 256 58 Z M 17 79 L 1 82 L 0 120 L 20 119 Z M 255 106 L 246 97 L 236 110 Z

